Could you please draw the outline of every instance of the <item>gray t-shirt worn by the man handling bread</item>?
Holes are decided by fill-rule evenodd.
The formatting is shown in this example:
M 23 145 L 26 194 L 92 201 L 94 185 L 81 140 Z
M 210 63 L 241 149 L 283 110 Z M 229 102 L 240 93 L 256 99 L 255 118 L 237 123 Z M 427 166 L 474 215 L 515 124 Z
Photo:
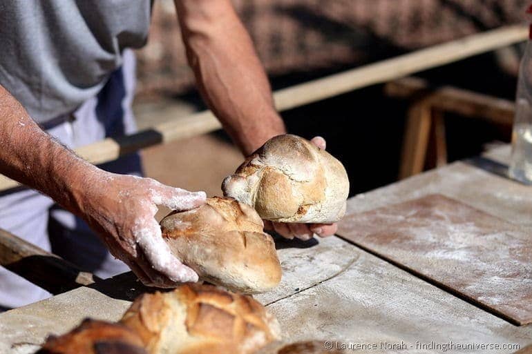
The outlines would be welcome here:
M 39 123 L 97 95 L 146 43 L 149 0 L 0 0 L 0 85 Z

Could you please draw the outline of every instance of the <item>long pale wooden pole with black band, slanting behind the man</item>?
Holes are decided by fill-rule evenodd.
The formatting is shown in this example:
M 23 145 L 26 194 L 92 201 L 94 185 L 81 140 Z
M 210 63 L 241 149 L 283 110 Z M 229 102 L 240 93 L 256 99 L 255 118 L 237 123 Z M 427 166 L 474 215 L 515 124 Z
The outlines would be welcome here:
M 289 110 L 358 88 L 384 83 L 414 72 L 503 48 L 528 39 L 528 35 L 529 30 L 526 26 L 505 26 L 278 90 L 274 92 L 274 101 L 279 111 Z M 78 148 L 76 152 L 93 164 L 102 164 L 140 148 L 204 134 L 219 128 L 220 123 L 211 112 L 199 112 L 121 139 L 104 139 Z M 0 176 L 0 190 L 17 185 L 17 182 Z

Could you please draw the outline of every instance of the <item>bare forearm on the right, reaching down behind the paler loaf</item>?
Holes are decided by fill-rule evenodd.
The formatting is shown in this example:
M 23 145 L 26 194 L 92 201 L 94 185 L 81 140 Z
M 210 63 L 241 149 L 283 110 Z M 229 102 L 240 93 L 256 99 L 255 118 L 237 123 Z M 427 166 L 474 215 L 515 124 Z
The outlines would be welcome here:
M 285 126 L 244 26 L 229 0 L 175 0 L 202 96 L 245 155 Z

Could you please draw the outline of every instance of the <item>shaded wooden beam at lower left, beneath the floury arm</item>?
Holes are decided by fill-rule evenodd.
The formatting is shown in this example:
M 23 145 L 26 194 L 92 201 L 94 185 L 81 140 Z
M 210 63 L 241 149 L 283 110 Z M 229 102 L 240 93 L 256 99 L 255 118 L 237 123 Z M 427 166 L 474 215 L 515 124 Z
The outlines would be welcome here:
M 91 273 L 0 229 L 0 266 L 54 295 L 99 281 Z

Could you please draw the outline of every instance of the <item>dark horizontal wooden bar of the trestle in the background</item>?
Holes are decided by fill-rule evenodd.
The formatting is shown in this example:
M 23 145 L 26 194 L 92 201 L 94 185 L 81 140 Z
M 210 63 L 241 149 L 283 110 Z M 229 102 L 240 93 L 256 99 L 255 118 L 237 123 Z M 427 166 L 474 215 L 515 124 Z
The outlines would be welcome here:
M 424 99 L 436 110 L 453 112 L 465 117 L 482 118 L 495 124 L 511 126 L 515 103 L 452 86 L 434 87 L 417 77 L 405 77 L 387 83 L 384 91 L 391 97 Z

